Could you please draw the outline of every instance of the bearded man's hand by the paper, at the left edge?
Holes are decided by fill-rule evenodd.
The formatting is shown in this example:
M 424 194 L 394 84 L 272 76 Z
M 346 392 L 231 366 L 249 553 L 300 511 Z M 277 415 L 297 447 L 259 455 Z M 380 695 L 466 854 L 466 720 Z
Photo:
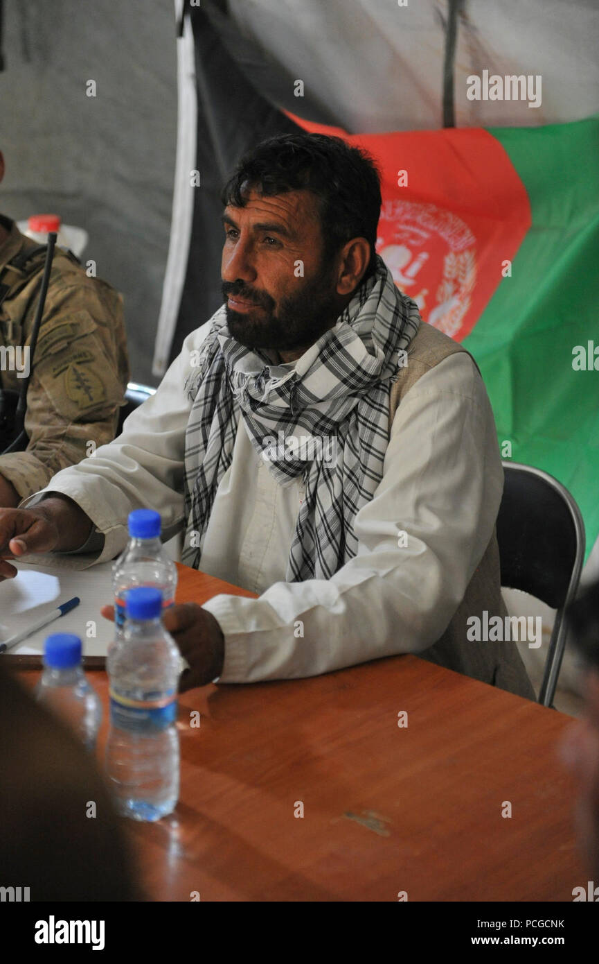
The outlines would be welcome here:
M 0 509 L 0 582 L 17 570 L 6 559 L 29 552 L 68 552 L 79 549 L 93 523 L 66 495 L 43 499 L 33 509 Z

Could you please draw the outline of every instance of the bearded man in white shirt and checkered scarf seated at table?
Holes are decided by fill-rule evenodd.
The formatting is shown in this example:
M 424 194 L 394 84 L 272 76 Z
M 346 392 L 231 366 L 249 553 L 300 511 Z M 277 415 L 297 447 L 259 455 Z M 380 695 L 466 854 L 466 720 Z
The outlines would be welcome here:
M 222 201 L 224 305 L 115 442 L 0 513 L 5 560 L 112 559 L 155 508 L 183 562 L 259 594 L 166 613 L 182 688 L 418 653 L 534 699 L 513 644 L 466 638 L 506 613 L 495 424 L 476 363 L 376 254 L 372 159 L 272 138 Z

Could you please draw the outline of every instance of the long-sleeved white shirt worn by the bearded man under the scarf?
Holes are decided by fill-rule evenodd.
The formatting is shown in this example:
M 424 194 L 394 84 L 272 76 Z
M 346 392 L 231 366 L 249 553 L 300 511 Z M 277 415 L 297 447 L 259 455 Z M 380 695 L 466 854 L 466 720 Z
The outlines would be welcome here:
M 48 562 L 85 568 L 114 558 L 126 543 L 132 509 L 158 510 L 164 539 L 182 528 L 191 410 L 184 384 L 208 329 L 209 323 L 188 335 L 156 394 L 127 418 L 115 442 L 63 469 L 43 490 L 69 495 L 105 536 L 100 555 L 53 555 Z M 204 603 L 224 634 L 221 682 L 315 676 L 427 649 L 447 628 L 482 559 L 502 491 L 481 376 L 468 355 L 451 355 L 398 407 L 382 480 L 355 518 L 357 555 L 330 579 L 286 583 L 302 487 L 277 484 L 240 418 L 200 568 L 260 596 L 220 595 Z

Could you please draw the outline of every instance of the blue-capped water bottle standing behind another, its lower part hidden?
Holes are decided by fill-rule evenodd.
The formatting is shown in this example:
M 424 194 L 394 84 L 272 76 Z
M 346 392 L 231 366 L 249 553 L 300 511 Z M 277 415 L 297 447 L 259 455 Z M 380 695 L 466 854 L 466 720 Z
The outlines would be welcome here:
M 163 606 L 174 603 L 177 569 L 160 541 L 160 514 L 152 509 L 129 513 L 129 542 L 113 566 L 117 639 L 125 622 L 125 593 L 153 586 L 163 594 Z

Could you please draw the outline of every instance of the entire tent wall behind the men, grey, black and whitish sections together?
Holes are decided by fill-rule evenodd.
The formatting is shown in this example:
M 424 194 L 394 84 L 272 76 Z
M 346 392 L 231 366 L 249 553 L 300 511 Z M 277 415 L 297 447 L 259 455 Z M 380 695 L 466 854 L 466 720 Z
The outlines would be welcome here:
M 221 303 L 221 182 L 244 149 L 293 129 L 281 109 L 350 132 L 438 128 L 457 7 L 457 126 L 545 124 L 597 110 L 596 0 L 188 0 L 201 187 L 187 192 L 187 223 L 179 208 L 171 226 L 182 4 L 3 3 L 0 210 L 17 219 L 56 210 L 88 229 L 86 257 L 125 297 L 133 375 L 151 384 Z M 466 77 L 484 68 L 541 73 L 541 106 L 468 101 Z M 86 96 L 90 79 L 95 97 Z M 170 260 L 181 264 L 161 302 L 171 227 L 181 243 Z

